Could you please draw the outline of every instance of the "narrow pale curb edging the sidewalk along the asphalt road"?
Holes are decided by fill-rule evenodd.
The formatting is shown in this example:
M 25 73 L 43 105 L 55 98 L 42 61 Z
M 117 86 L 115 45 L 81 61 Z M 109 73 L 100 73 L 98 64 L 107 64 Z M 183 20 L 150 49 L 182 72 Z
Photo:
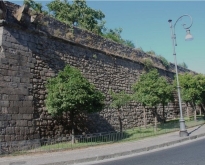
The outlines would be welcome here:
M 79 163 L 88 163 L 88 162 L 93 162 L 93 161 L 107 160 L 107 159 L 111 159 L 111 158 L 117 158 L 117 157 L 132 155 L 132 154 L 138 154 L 138 153 L 145 152 L 145 151 L 151 151 L 151 150 L 158 149 L 158 148 L 168 147 L 168 146 L 172 146 L 172 145 L 182 143 L 182 142 L 185 142 L 188 140 L 194 140 L 194 139 L 204 137 L 204 136 L 205 136 L 205 133 L 202 133 L 199 135 L 193 135 L 193 136 L 185 137 L 185 138 L 182 138 L 179 140 L 174 140 L 174 141 L 167 142 L 167 143 L 162 143 L 162 144 L 153 145 L 153 146 L 149 146 L 149 147 L 139 148 L 139 149 L 135 149 L 135 150 L 131 150 L 131 151 L 113 153 L 113 154 L 109 154 L 109 155 L 94 156 L 94 157 L 90 157 L 90 158 L 75 159 L 75 160 L 69 160 L 69 161 L 63 161 L 63 162 L 46 163 L 46 164 L 41 164 L 41 165 L 74 165 L 74 164 L 79 164 Z

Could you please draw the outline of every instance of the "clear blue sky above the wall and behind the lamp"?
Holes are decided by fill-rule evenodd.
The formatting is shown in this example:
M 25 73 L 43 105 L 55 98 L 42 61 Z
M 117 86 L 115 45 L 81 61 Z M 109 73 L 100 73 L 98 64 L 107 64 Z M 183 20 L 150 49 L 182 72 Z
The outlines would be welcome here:
M 22 1 L 11 1 L 22 4 Z M 43 4 L 49 1 L 41 1 Z M 122 28 L 123 39 L 128 39 L 144 51 L 155 51 L 174 62 L 168 20 L 175 21 L 184 14 L 193 18 L 190 28 L 193 41 L 185 41 L 182 24 L 190 24 L 184 17 L 176 24 L 177 61 L 205 74 L 205 1 L 87 1 L 87 5 L 105 14 L 107 28 Z

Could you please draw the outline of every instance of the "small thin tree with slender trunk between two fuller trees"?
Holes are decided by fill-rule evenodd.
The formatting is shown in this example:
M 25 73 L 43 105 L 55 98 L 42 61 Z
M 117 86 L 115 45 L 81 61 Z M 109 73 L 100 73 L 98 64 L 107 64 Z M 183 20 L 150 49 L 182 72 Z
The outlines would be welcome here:
M 122 119 L 121 119 L 121 110 L 124 105 L 127 104 L 127 102 L 130 101 L 130 95 L 126 94 L 125 91 L 121 91 L 119 93 L 114 93 L 113 91 L 110 91 L 111 97 L 112 97 L 112 103 L 110 106 L 112 108 L 116 108 L 118 111 L 118 120 L 120 124 L 120 132 L 122 132 Z

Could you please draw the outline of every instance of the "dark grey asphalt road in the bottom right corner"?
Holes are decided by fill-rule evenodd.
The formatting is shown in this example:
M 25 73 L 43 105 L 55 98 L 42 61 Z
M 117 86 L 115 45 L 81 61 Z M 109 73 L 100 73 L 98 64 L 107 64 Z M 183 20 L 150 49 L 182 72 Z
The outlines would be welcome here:
M 92 165 L 205 165 L 205 139 L 148 154 Z

